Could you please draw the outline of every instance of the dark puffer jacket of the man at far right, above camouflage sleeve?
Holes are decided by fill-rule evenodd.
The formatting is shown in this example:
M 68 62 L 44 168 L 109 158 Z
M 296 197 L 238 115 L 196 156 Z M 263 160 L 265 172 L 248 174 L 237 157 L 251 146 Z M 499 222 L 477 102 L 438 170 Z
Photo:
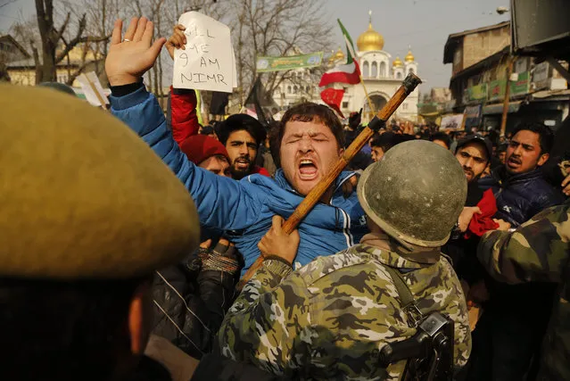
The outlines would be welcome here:
M 479 180 L 479 185 L 492 188 L 499 210 L 494 218 L 504 219 L 513 227 L 519 226 L 550 206 L 564 203 L 565 200 L 562 193 L 542 177 L 538 168 L 508 176 L 503 165 L 494 170 L 491 177 Z

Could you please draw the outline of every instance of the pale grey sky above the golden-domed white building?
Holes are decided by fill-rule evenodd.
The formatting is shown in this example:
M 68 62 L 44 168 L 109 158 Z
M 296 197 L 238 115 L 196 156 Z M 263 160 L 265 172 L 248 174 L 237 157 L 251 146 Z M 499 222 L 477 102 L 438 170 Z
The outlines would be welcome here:
M 6 1 L 0 0 L 0 4 Z M 344 46 L 336 19 L 343 21 L 356 43 L 359 35 L 368 29 L 368 11 L 372 11 L 372 26 L 384 36 L 384 51 L 392 54 L 392 59 L 396 55 L 403 59 L 411 46 L 418 62 L 417 73 L 424 80 L 422 92 L 431 87 L 449 86 L 451 64 L 443 64 L 447 37 L 507 21 L 508 13 L 499 15 L 495 10 L 499 6 L 508 7 L 509 3 L 509 0 L 323 0 L 326 17 L 335 25 L 336 48 Z M 34 12 L 31 0 L 17 0 L 1 7 L 0 34 L 21 15 L 29 17 Z

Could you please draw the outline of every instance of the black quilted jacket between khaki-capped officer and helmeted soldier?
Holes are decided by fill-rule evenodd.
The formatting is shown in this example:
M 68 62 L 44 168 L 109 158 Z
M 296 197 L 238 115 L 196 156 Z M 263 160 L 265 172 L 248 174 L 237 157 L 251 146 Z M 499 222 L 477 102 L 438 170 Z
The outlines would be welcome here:
M 156 271 L 153 334 L 201 359 L 211 352 L 219 326 L 234 301 L 235 282 L 236 276 L 227 272 L 191 269 L 183 263 Z

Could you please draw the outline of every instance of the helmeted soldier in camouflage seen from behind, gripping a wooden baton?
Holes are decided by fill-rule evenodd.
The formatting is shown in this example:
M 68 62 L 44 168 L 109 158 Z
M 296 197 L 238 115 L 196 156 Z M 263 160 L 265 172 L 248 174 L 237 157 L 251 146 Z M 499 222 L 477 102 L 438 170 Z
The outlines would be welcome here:
M 400 191 L 403 182 L 409 192 Z M 392 278 L 397 271 L 424 315 L 440 311 L 454 320 L 459 369 L 471 349 L 467 306 L 440 246 L 466 194 L 453 155 L 414 141 L 392 148 L 360 178 L 359 201 L 371 230 L 360 244 L 293 271 L 299 237 L 286 235 L 276 216 L 260 242 L 263 264 L 219 330 L 221 353 L 285 377 L 399 379 L 405 360 L 387 369 L 378 365 L 385 344 L 416 332 L 402 311 Z

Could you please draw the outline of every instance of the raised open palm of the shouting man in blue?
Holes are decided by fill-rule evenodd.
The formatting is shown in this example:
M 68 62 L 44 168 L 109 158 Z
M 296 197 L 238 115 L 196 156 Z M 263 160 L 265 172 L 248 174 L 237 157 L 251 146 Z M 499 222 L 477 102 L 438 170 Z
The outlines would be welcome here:
M 145 17 L 133 18 L 121 39 L 122 21 L 115 21 L 111 46 L 105 60 L 105 71 L 111 86 L 128 85 L 138 81 L 153 67 L 166 38 L 153 43 L 153 22 Z

